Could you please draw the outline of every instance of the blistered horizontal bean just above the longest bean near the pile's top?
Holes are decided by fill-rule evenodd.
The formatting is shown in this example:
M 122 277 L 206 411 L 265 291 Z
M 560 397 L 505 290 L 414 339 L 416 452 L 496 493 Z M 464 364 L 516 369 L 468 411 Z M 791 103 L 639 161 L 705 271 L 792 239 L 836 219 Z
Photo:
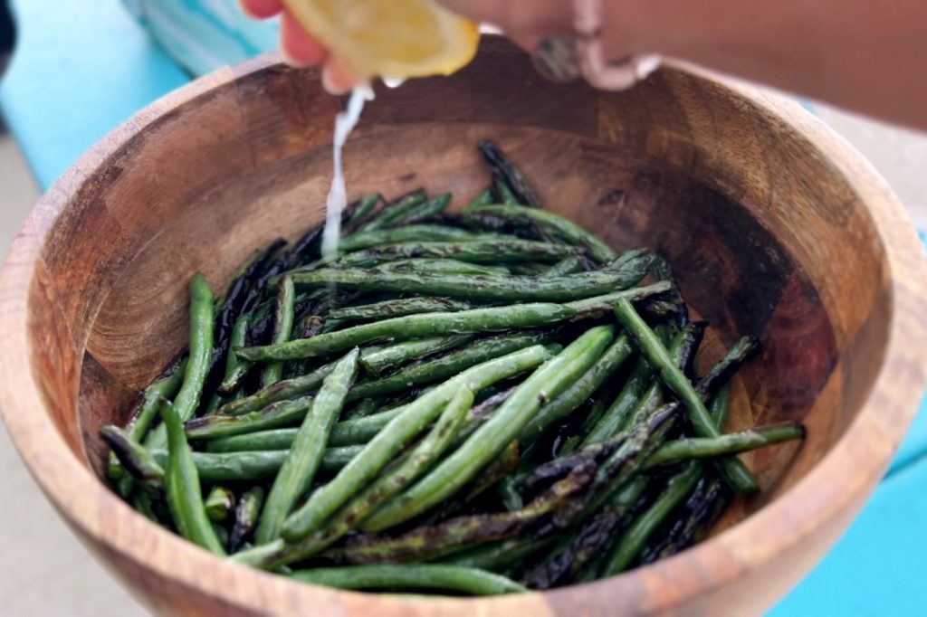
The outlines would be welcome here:
M 572 246 L 500 236 L 464 242 L 405 242 L 375 246 L 349 253 L 327 265 L 331 268 L 374 268 L 387 261 L 413 258 L 459 259 L 470 263 L 559 261 L 576 253 L 577 249 Z M 317 269 L 303 268 L 294 273 L 304 274 L 314 270 Z

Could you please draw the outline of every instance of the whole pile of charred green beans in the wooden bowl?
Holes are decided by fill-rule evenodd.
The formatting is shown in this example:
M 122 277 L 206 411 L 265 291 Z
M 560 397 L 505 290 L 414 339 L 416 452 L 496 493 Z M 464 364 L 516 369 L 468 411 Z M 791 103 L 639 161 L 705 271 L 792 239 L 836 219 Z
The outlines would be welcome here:
M 275 241 L 222 297 L 190 283 L 189 345 L 101 436 L 112 485 L 216 555 L 296 581 L 494 595 L 620 573 L 703 539 L 760 486 L 724 433 L 743 337 L 694 370 L 666 262 L 542 208 L 482 142 L 459 214 L 415 191 Z

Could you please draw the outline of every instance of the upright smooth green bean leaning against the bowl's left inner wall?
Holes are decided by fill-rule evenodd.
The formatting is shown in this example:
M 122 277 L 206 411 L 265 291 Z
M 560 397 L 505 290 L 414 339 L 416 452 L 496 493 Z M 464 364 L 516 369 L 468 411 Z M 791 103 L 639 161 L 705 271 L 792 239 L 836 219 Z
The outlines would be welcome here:
M 212 355 L 212 291 L 203 275 L 197 272 L 190 280 L 190 356 L 184 370 L 184 384 L 174 398 L 173 407 L 181 422 L 193 417 L 210 370 Z M 162 413 L 163 415 L 163 413 Z M 167 431 L 159 428 L 148 434 L 146 447 L 163 447 Z

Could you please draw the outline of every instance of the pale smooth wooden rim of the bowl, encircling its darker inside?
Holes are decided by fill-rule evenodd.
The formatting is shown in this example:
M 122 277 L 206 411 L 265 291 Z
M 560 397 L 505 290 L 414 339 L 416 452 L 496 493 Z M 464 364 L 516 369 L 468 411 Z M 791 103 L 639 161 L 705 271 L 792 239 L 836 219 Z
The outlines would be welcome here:
M 748 105 L 751 113 L 784 126 L 832 162 L 835 172 L 870 212 L 889 270 L 892 311 L 883 366 L 857 417 L 821 460 L 786 491 L 788 498 L 774 499 L 741 523 L 677 556 L 616 577 L 515 597 L 428 600 L 339 591 L 260 573 L 216 559 L 135 513 L 78 460 L 58 434 L 40 395 L 32 362 L 22 361 L 32 358 L 27 329 L 35 267 L 70 196 L 122 145 L 162 115 L 193 104 L 243 76 L 280 65 L 280 58 L 269 54 L 220 69 L 163 96 L 109 132 L 41 198 L 0 272 L 0 334 L 6 342 L 0 346 L 0 410 L 32 476 L 58 512 L 80 532 L 85 544 L 89 546 L 87 539 L 92 539 L 97 549 L 121 555 L 142 571 L 151 570 L 177 586 L 222 598 L 229 607 L 254 613 L 272 607 L 295 613 L 299 607 L 315 606 L 323 613 L 323 607 L 339 613 L 375 607 L 375 614 L 420 614 L 425 609 L 444 614 L 476 611 L 479 604 L 481 614 L 502 615 L 517 608 L 546 615 L 553 612 L 550 599 L 557 605 L 578 601 L 577 606 L 614 611 L 607 598 L 615 598 L 616 593 L 629 599 L 644 598 L 641 601 L 648 604 L 639 605 L 640 610 L 665 610 L 743 577 L 786 550 L 800 550 L 801 543 L 825 523 L 835 522 L 831 540 L 842 533 L 887 468 L 914 417 L 923 389 L 912 393 L 904 390 L 911 384 L 927 384 L 927 354 L 923 351 L 927 329 L 915 318 L 927 300 L 927 290 L 917 276 L 919 269 L 924 271 L 922 248 L 907 212 L 882 177 L 841 136 L 794 102 L 701 70 L 696 71 L 699 79 L 715 82 Z M 854 472 L 847 473 L 847 469 Z M 812 565 L 807 563 L 806 569 Z M 693 571 L 710 575 L 692 576 Z M 798 577 L 794 578 L 797 581 Z M 607 594 L 603 593 L 606 588 Z M 641 589 L 650 593 L 641 594 Z

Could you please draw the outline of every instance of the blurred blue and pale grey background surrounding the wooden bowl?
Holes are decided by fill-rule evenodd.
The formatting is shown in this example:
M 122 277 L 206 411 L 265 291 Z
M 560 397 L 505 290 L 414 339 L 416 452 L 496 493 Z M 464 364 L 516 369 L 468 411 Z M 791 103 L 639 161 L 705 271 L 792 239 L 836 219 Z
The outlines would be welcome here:
M 246 18 L 236 0 L 0 0 L 3 254 L 39 195 L 106 132 L 199 75 L 273 51 L 276 36 L 275 22 Z M 927 229 L 927 135 L 803 104 L 870 159 Z M 906 564 L 927 551 L 925 416 L 844 540 L 771 614 L 923 610 L 927 586 Z M 0 469 L 2 614 L 146 614 L 60 522 L 3 428 Z

